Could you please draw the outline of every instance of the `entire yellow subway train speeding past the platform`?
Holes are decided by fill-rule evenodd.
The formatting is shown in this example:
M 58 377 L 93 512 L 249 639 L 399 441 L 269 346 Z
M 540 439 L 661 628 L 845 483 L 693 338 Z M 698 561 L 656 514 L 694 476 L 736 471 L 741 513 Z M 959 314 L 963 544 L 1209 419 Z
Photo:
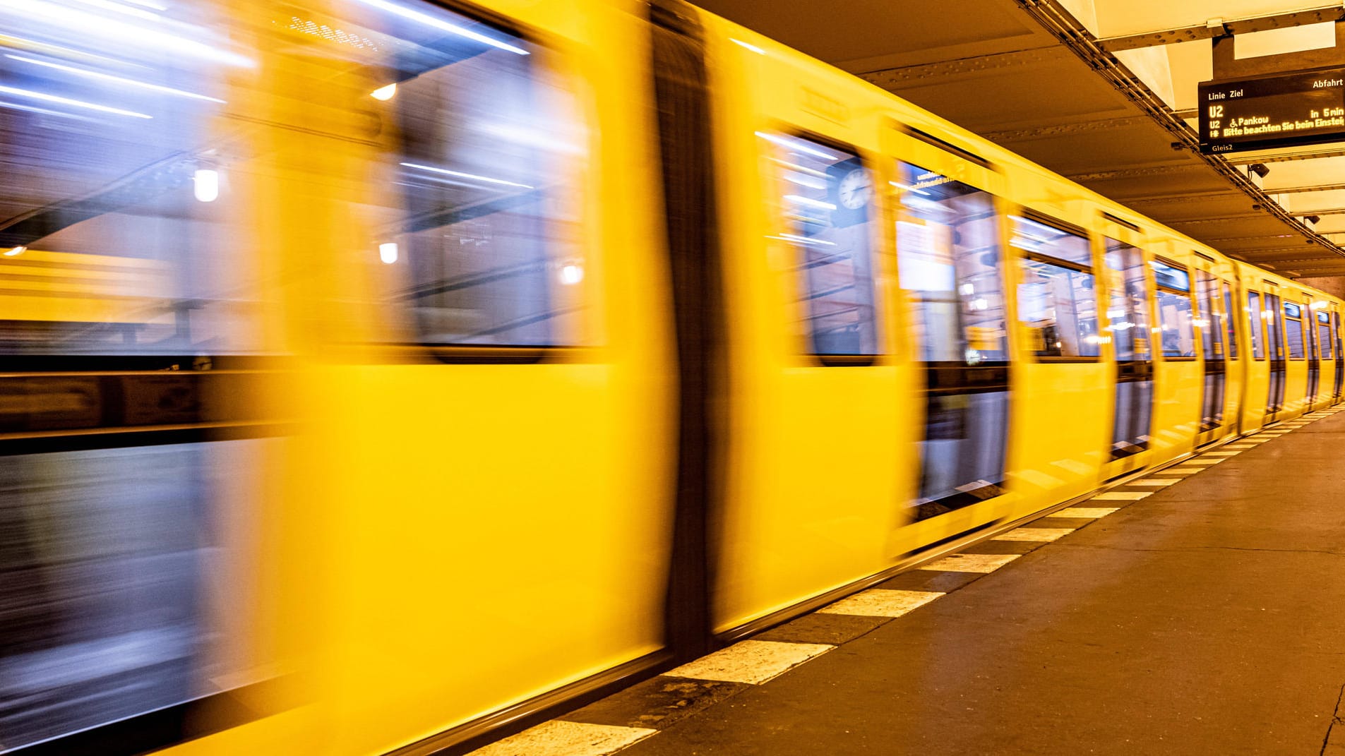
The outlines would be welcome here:
M 4 753 L 464 752 L 1341 400 L 1341 300 L 675 0 L 0 28 Z

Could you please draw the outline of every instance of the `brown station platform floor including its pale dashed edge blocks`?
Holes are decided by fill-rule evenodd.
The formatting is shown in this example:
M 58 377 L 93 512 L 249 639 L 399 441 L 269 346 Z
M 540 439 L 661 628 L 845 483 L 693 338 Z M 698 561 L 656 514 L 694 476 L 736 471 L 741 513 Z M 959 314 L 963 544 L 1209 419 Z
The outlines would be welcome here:
M 1345 756 L 1345 414 L 1110 488 L 477 756 Z

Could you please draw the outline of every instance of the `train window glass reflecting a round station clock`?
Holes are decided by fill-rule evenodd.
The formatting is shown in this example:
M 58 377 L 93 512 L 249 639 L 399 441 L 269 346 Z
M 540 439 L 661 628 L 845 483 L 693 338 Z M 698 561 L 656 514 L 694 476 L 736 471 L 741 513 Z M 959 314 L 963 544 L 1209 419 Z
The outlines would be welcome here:
M 784 231 L 795 249 L 802 323 L 818 355 L 878 354 L 873 307 L 873 179 L 854 153 L 761 132 L 779 179 Z

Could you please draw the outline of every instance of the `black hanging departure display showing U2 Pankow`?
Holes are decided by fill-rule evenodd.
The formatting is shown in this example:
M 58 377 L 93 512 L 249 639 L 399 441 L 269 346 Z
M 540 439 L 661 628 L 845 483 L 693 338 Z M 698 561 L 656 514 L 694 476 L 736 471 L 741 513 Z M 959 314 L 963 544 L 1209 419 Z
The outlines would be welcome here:
M 1202 82 L 1200 151 L 1345 141 L 1345 69 Z

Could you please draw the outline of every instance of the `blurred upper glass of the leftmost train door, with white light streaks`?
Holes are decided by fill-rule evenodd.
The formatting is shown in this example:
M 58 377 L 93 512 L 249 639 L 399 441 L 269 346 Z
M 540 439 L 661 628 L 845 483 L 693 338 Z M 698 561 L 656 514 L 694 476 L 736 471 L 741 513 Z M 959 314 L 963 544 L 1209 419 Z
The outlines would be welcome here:
M 0 354 L 260 346 L 215 135 L 256 61 L 219 4 L 155 7 L 0 3 Z

